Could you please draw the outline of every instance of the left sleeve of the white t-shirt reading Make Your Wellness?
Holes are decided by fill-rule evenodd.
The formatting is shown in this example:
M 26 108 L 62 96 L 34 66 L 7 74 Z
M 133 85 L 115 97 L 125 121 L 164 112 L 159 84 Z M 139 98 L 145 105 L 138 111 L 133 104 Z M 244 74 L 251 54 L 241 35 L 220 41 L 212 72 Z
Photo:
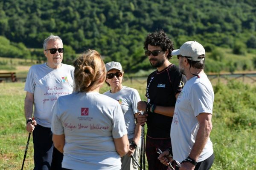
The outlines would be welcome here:
M 59 98 L 57 102 L 54 104 L 53 109 L 52 109 L 52 133 L 55 135 L 62 135 L 64 134 L 64 128 L 62 127 L 61 124 L 61 119 L 60 119 L 60 107 L 59 107 Z

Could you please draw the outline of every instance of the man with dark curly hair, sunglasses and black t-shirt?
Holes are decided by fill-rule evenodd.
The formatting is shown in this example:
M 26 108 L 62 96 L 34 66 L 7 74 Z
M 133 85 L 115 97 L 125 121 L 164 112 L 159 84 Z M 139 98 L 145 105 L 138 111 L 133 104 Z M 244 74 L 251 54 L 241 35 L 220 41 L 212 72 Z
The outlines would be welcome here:
M 140 125 L 146 122 L 148 127 L 145 146 L 148 170 L 167 170 L 168 167 L 157 159 L 156 148 L 171 148 L 170 129 L 175 102 L 186 77 L 169 61 L 174 46 L 163 30 L 148 34 L 144 49 L 151 66 L 157 70 L 148 76 L 147 101 L 138 102 L 138 109 L 145 114 L 138 115 L 137 121 Z

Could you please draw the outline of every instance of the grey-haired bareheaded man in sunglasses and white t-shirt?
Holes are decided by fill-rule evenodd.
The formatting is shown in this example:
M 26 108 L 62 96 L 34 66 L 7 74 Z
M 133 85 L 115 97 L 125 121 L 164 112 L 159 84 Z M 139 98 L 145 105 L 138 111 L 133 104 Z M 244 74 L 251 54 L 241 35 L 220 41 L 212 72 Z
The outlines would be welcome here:
M 62 153 L 53 147 L 52 108 L 59 96 L 73 92 L 74 67 L 61 63 L 63 43 L 60 37 L 50 35 L 44 40 L 47 62 L 31 66 L 24 90 L 26 130 L 33 132 L 34 170 L 61 169 Z M 33 115 L 33 107 L 34 115 Z M 35 118 L 32 121 L 32 117 Z

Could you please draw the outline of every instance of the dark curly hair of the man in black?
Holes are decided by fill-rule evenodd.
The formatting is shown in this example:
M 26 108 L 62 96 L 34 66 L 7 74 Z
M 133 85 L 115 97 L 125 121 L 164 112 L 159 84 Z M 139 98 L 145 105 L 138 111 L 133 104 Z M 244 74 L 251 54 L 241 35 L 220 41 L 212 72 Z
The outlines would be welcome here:
M 172 50 L 174 50 L 173 42 L 167 37 L 166 33 L 162 29 L 148 34 L 144 42 L 145 50 L 148 49 L 148 44 L 151 46 L 160 46 L 163 51 L 168 50 L 169 54 L 167 55 L 167 58 L 168 60 L 172 58 Z

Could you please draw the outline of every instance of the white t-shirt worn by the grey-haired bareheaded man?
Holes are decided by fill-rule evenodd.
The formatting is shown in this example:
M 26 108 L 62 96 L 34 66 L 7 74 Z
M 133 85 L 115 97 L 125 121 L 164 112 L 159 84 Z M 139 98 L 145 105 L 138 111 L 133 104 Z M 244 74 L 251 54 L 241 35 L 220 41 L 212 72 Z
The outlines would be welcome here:
M 73 92 L 74 67 L 61 64 L 52 69 L 46 63 L 31 66 L 24 90 L 34 94 L 34 117 L 37 124 L 51 127 L 52 107 L 58 97 Z

